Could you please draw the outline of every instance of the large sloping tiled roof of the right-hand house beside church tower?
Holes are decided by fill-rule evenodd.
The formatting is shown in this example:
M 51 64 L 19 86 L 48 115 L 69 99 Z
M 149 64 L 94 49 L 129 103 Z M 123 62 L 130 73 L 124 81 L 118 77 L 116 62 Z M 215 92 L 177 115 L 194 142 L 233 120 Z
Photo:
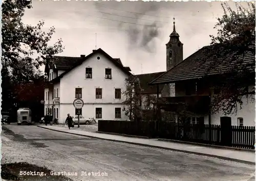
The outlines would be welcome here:
M 230 58 L 223 59 L 223 57 L 219 57 L 218 59 L 214 59 L 212 56 L 209 56 L 210 50 L 211 48 L 209 46 L 203 47 L 182 62 L 178 63 L 173 69 L 170 69 L 153 80 L 150 84 L 166 84 L 176 81 L 202 78 L 206 75 L 210 76 L 227 73 L 230 66 L 233 64 L 233 61 L 231 60 L 233 54 L 230 54 Z M 243 63 L 253 64 L 255 67 L 255 55 L 251 52 L 247 52 L 244 55 Z

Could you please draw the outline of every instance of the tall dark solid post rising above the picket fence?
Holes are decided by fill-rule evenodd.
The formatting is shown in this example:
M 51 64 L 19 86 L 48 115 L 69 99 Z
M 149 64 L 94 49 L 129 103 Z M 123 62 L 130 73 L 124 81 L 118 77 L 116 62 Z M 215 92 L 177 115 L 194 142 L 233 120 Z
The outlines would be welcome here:
M 232 145 L 232 127 L 230 117 L 221 117 L 221 145 L 231 146 Z

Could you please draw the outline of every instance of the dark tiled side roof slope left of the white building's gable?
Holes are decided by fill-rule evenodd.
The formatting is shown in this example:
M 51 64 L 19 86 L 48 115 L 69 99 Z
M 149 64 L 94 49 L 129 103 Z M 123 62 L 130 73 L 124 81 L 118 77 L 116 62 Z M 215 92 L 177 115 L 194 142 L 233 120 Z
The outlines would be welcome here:
M 81 57 L 54 56 L 50 69 L 68 70 L 81 59 Z M 54 64 L 56 67 L 54 67 Z

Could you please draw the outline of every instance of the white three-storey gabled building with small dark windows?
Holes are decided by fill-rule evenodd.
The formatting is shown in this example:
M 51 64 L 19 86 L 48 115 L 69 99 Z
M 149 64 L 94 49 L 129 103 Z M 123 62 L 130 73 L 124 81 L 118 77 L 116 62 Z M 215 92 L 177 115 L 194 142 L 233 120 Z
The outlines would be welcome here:
M 65 123 L 67 114 L 74 116 L 78 111 L 73 101 L 81 98 L 84 106 L 80 114 L 86 118 L 127 120 L 121 93 L 130 71 L 119 58 L 112 58 L 101 49 L 88 56 L 55 56 L 53 64 L 45 68 L 49 80 L 45 88 L 45 114 L 51 108 L 53 117 Z

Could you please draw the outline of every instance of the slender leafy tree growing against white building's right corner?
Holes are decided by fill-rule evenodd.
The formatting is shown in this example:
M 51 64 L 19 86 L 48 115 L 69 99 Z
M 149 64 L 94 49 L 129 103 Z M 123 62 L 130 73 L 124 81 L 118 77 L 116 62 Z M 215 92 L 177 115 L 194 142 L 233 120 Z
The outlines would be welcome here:
M 123 111 L 125 115 L 129 116 L 130 120 L 137 120 L 141 118 L 141 87 L 140 81 L 134 75 L 125 79 L 126 89 L 123 92 L 125 100 L 123 101 Z

